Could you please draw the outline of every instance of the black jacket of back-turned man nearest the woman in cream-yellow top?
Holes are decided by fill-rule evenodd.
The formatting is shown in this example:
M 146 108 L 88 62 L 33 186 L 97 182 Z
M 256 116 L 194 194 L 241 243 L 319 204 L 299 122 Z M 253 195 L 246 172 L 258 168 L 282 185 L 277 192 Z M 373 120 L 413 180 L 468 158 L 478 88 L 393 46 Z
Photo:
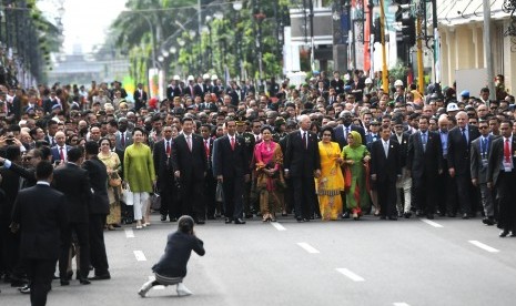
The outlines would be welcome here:
M 90 200 L 90 215 L 109 215 L 108 170 L 97 156 L 84 161 L 82 167 L 88 171 L 93 196 Z

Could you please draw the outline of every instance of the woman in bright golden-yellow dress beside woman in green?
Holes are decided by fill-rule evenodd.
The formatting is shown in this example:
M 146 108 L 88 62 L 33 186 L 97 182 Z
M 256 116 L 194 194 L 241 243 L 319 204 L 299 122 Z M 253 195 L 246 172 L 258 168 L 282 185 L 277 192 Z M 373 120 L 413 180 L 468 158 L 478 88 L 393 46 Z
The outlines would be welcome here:
M 318 142 L 318 154 L 321 155 L 321 177 L 315 178 L 315 190 L 318 196 L 321 218 L 337 220 L 342 214 L 341 192 L 344 191 L 344 176 L 342 175 L 341 147 L 338 143 L 332 142 L 333 129 L 322 129 L 322 141 Z

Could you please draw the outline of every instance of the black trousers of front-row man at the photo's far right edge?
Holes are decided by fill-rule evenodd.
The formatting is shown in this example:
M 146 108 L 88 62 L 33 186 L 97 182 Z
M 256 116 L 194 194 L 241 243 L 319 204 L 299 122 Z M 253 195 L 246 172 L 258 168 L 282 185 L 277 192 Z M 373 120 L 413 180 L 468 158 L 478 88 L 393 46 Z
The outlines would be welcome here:
M 496 182 L 498 227 L 516 231 L 516 171 L 500 172 Z

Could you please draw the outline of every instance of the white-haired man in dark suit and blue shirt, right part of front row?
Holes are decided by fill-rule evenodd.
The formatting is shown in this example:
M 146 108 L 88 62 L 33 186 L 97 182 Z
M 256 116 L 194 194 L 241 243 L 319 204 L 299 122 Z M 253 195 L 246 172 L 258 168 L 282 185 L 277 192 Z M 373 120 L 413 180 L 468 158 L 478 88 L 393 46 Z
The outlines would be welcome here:
M 476 194 L 476 190 L 472 184 L 469 145 L 480 133 L 478 128 L 467 124 L 466 112 L 461 111 L 455 118 L 457 126 L 448 132 L 448 172 L 457 184 L 463 218 L 469 218 L 475 215 L 478 202 L 476 196 L 472 196 Z

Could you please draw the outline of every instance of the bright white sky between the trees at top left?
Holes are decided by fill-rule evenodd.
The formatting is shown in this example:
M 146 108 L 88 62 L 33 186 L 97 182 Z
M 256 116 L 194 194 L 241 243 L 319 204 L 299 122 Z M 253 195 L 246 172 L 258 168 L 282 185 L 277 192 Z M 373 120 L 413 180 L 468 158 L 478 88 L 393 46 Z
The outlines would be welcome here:
M 93 45 L 102 44 L 109 26 L 124 10 L 127 0 L 39 0 L 38 7 L 43 16 L 54 24 L 60 2 L 64 7 L 63 49 L 71 54 L 78 43 L 84 53 L 91 52 Z

